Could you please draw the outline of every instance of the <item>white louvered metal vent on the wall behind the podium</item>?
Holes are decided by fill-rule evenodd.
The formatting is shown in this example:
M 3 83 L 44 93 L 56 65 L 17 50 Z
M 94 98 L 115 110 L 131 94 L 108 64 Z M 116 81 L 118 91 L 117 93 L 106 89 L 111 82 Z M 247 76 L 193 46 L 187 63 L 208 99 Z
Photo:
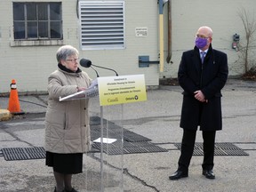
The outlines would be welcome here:
M 124 49 L 124 1 L 79 1 L 82 49 Z

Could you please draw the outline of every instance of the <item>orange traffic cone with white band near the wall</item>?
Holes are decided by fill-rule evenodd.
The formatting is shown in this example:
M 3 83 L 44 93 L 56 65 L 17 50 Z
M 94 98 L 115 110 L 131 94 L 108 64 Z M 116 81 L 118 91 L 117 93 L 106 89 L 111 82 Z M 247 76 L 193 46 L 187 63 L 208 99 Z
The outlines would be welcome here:
M 24 114 L 24 112 L 20 110 L 20 101 L 18 97 L 17 85 L 14 79 L 12 79 L 12 84 L 10 84 L 10 86 L 11 92 L 9 97 L 9 106 L 7 109 L 12 115 L 22 115 Z

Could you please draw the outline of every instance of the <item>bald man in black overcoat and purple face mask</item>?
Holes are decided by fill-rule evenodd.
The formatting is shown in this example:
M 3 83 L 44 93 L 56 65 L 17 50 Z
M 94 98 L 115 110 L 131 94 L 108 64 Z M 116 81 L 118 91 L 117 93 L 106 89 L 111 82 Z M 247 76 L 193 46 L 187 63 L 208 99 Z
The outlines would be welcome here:
M 228 79 L 228 57 L 212 49 L 212 29 L 201 27 L 196 33 L 194 50 L 183 52 L 178 79 L 184 90 L 180 117 L 183 128 L 178 170 L 169 179 L 188 177 L 196 130 L 200 127 L 204 140 L 203 175 L 215 179 L 212 172 L 215 133 L 222 129 L 221 92 Z

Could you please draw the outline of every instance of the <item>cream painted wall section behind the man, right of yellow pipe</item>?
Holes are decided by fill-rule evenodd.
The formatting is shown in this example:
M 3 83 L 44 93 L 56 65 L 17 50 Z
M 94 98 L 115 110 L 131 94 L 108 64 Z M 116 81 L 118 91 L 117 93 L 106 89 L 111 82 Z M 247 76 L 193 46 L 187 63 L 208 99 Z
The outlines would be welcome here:
M 243 65 L 238 60 L 240 52 L 231 48 L 234 34 L 240 35 L 241 42 L 245 40 L 244 26 L 237 15 L 241 7 L 248 12 L 254 12 L 256 17 L 255 0 L 172 0 L 173 64 L 165 64 L 164 73 L 160 76 L 177 77 L 181 54 L 194 47 L 194 36 L 201 26 L 212 28 L 212 47 L 228 54 L 229 76 L 243 73 Z M 256 59 L 255 54 L 252 57 L 254 58 L 251 61 Z

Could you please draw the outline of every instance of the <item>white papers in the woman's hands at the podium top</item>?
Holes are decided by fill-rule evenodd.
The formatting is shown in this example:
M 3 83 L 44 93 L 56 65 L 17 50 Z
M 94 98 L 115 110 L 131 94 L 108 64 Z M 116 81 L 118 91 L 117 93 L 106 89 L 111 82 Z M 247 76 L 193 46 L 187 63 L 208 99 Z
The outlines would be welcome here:
M 62 97 L 62 98 L 60 97 L 60 101 L 89 99 L 89 98 L 96 97 L 98 95 L 99 95 L 98 80 L 95 79 L 92 81 L 92 84 L 88 87 L 88 89 L 81 92 L 76 92 L 66 97 Z

